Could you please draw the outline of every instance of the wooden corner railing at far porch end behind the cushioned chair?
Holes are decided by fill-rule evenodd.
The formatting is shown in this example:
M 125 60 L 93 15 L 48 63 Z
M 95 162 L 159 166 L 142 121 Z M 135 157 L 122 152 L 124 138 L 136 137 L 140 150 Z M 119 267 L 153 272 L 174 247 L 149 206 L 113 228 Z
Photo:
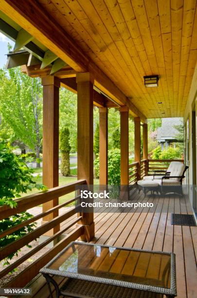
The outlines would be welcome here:
M 143 159 L 129 165 L 129 184 L 136 184 L 138 180 L 154 171 L 167 170 L 172 161 L 184 162 L 182 159 Z

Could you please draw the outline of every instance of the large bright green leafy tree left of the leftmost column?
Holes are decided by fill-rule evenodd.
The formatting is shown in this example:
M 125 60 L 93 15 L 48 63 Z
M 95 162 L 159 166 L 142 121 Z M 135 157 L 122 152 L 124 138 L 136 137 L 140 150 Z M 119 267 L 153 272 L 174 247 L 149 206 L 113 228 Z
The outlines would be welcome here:
M 0 70 L 0 115 L 14 132 L 21 149 L 36 151 L 37 166 L 42 142 L 42 88 L 39 78 L 21 73 L 20 68 Z M 24 151 L 23 151 L 24 152 Z

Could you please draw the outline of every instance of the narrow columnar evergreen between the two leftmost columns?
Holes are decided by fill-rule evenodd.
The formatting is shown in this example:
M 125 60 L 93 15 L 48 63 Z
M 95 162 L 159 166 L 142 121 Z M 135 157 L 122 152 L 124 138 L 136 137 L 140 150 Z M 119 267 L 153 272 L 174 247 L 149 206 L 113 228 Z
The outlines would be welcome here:
M 67 127 L 60 131 L 60 150 L 61 150 L 61 173 L 63 176 L 70 175 L 70 131 Z

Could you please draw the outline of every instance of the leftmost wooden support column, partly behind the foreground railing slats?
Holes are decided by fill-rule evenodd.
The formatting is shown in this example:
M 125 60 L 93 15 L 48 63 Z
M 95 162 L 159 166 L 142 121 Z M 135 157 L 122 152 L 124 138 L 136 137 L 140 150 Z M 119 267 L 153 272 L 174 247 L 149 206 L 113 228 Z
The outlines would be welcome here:
M 54 76 L 42 78 L 43 85 L 43 184 L 49 188 L 59 184 L 59 87 L 60 80 Z M 46 211 L 58 205 L 58 198 L 44 203 L 42 210 Z M 43 222 L 58 216 L 58 211 L 45 216 Z M 59 224 L 54 227 L 54 233 L 59 230 Z M 52 235 L 52 230 L 47 236 Z

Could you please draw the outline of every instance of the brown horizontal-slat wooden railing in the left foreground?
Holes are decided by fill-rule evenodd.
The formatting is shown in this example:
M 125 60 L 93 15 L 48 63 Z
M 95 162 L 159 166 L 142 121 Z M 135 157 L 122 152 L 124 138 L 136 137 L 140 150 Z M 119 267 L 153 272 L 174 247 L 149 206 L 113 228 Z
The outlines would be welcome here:
M 9 206 L 0 206 L 0 220 L 8 218 L 12 215 L 18 214 L 22 211 L 26 211 L 32 207 L 35 207 L 37 205 L 46 203 L 48 201 L 53 200 L 54 198 L 61 197 L 65 194 L 71 193 L 75 191 L 76 186 L 78 185 L 84 185 L 86 184 L 86 180 L 78 180 L 75 183 L 71 183 L 65 186 L 58 186 L 49 189 L 46 192 L 40 192 L 36 194 L 32 194 L 29 196 L 25 196 L 22 198 L 19 198 L 16 200 L 17 207 L 16 208 L 10 208 Z M 68 206 L 72 202 L 75 202 L 78 199 L 78 197 L 74 196 L 71 200 L 57 205 L 50 210 L 44 211 L 31 219 L 28 219 L 22 223 L 19 223 L 16 226 L 13 226 L 2 233 L 0 233 L 0 237 L 7 236 L 18 229 L 27 226 L 30 223 L 36 222 L 38 219 L 41 219 L 45 217 L 46 215 L 49 215 L 50 213 L 54 213 L 54 211 L 59 210 L 62 207 Z M 74 214 L 77 213 L 77 209 L 75 206 L 70 207 L 66 212 L 63 214 L 53 218 L 49 222 L 44 223 L 43 225 L 40 225 L 36 227 L 32 232 L 26 234 L 25 236 L 19 238 L 14 243 L 11 242 L 10 244 L 7 244 L 6 246 L 2 247 L 0 249 L 0 261 L 5 259 L 10 254 L 16 252 L 18 249 L 21 249 L 23 246 L 27 245 L 28 243 L 36 240 L 41 235 L 45 234 L 47 231 L 51 230 L 58 224 L 64 222 L 65 220 L 71 218 Z M 78 224 L 83 219 L 83 216 L 75 217 L 74 219 L 70 220 L 66 225 L 63 226 L 62 230 L 59 230 L 56 232 L 53 236 L 47 238 L 44 242 L 41 242 L 38 244 L 35 248 L 30 250 L 28 253 L 23 255 L 22 257 L 18 258 L 17 261 L 10 264 L 9 266 L 5 267 L 0 272 L 0 278 L 8 274 L 11 270 L 17 268 L 21 263 L 32 257 L 34 254 L 36 254 L 40 249 L 45 247 L 47 244 L 49 244 L 52 241 L 56 241 L 56 244 L 47 251 L 44 256 L 39 257 L 36 259 L 36 261 L 32 262 L 29 266 L 27 266 L 23 271 L 21 271 L 14 279 L 12 279 L 6 287 L 23 287 L 25 286 L 30 280 L 32 280 L 39 272 L 39 269 L 43 267 L 47 262 L 49 262 L 54 256 L 60 252 L 66 245 L 68 245 L 71 241 L 74 241 L 78 239 L 80 236 L 84 234 L 84 227 L 82 224 Z M 72 232 L 69 232 L 68 229 L 73 227 Z M 60 241 L 59 236 L 64 234 L 65 232 L 68 233 L 64 235 L 64 238 Z

